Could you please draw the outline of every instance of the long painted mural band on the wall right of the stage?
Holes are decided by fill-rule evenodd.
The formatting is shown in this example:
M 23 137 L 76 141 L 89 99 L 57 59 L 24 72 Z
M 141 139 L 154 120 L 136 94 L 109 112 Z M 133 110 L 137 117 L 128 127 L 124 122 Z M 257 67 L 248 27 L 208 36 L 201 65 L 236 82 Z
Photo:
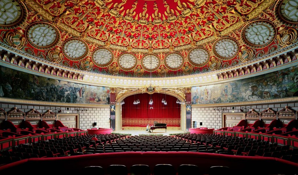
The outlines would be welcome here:
M 298 66 L 191 89 L 192 104 L 256 101 L 295 96 L 298 96 Z

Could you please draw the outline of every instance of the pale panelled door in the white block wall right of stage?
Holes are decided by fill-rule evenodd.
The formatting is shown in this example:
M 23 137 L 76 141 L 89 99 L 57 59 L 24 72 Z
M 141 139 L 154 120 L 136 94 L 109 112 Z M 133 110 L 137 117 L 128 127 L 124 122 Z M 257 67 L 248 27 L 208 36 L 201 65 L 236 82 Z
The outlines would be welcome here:
M 245 113 L 223 113 L 222 114 L 222 127 L 233 127 L 236 126 L 241 120 L 244 119 Z

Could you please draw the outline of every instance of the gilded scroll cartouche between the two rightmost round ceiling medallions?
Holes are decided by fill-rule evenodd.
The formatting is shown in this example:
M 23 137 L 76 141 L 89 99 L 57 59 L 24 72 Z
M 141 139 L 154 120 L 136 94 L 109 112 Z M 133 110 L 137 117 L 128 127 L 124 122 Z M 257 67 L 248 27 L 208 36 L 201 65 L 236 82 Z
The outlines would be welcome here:
M 297 41 L 297 30 L 294 28 L 285 29 L 280 31 L 280 34 L 276 36 L 278 44 L 282 47 L 288 47 Z

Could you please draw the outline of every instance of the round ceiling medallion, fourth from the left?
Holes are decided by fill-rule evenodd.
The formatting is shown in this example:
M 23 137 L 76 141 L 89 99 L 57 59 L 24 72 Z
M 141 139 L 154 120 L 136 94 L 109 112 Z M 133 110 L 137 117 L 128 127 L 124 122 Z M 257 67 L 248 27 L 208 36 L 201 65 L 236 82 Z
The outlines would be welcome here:
M 93 51 L 91 59 L 98 67 L 108 67 L 114 60 L 114 54 L 110 49 L 101 47 Z

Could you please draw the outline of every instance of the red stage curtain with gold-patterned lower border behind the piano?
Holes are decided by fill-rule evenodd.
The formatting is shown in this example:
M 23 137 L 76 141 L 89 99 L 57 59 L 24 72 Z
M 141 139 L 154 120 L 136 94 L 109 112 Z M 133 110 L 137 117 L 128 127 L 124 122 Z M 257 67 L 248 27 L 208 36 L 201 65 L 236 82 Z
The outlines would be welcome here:
M 151 98 L 153 104 L 149 105 Z M 140 103 L 134 105 L 134 100 L 137 99 Z M 162 99 L 167 100 L 167 105 L 162 103 Z M 176 101 L 176 97 L 159 93 L 128 96 L 122 105 L 122 127 L 146 127 L 147 124 L 152 126 L 154 121 L 180 127 L 181 104 L 177 104 Z

